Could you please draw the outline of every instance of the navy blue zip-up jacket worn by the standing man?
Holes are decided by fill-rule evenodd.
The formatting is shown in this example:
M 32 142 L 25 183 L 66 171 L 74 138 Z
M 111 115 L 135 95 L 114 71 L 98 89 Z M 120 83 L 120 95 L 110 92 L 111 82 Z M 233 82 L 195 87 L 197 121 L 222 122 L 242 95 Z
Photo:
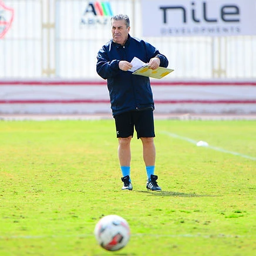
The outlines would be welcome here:
M 168 60 L 159 50 L 141 39 L 128 35 L 124 46 L 110 40 L 97 53 L 96 70 L 99 76 L 107 79 L 113 116 L 133 111 L 154 109 L 150 80 L 146 76 L 132 75 L 130 71 L 119 69 L 120 60 L 131 62 L 136 56 L 148 63 L 158 57 L 160 66 L 167 68 Z

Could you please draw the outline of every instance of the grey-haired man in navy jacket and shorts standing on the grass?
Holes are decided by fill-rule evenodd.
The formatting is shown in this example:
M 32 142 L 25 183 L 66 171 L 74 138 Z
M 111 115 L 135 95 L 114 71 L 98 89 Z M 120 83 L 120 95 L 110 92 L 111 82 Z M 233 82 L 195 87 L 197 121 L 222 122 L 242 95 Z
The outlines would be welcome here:
M 166 68 L 168 60 L 159 50 L 141 39 L 129 35 L 130 20 L 127 15 L 111 18 L 112 37 L 97 53 L 96 70 L 107 79 L 111 109 L 119 142 L 118 157 L 122 170 L 122 190 L 132 190 L 130 179 L 130 142 L 134 127 L 137 139 L 142 140 L 143 160 L 146 165 L 148 190 L 161 190 L 154 175 L 156 149 L 154 146 L 154 101 L 150 80 L 146 76 L 132 75 L 130 63 L 136 56 L 150 69 Z

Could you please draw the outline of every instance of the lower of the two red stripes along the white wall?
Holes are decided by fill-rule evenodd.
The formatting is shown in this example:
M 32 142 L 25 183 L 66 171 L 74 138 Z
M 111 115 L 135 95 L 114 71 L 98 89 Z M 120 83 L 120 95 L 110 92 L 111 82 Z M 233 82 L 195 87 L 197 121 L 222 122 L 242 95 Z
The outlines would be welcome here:
M 109 103 L 109 100 L 0 100 L 0 104 L 76 104 L 76 103 Z M 156 104 L 256 104 L 256 100 L 154 100 Z

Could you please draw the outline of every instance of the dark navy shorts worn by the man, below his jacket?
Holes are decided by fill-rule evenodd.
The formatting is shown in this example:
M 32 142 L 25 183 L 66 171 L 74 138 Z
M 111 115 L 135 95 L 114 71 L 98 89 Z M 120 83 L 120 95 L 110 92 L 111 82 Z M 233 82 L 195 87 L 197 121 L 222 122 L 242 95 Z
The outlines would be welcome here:
M 116 137 L 133 136 L 134 128 L 137 139 L 140 137 L 155 137 L 153 109 L 131 111 L 114 116 L 116 122 Z

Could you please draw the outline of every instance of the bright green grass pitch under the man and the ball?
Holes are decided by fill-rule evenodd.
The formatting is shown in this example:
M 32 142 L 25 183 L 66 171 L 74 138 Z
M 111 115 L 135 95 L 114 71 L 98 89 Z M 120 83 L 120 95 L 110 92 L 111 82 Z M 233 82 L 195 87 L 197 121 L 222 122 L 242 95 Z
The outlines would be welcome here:
M 256 121 L 155 128 L 163 191 L 146 190 L 135 138 L 133 191 L 122 191 L 113 120 L 1 121 L 0 255 L 256 255 Z M 132 231 L 120 251 L 93 235 L 108 214 Z

